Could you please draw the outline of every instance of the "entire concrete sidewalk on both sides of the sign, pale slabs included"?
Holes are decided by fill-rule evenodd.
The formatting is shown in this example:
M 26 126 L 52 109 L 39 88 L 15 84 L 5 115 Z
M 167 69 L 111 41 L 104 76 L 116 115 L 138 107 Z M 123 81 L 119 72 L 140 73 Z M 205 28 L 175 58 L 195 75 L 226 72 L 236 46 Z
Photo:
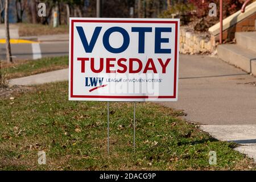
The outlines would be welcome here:
M 236 150 L 256 159 L 256 78 L 209 56 L 180 55 L 179 69 L 179 101 L 160 104 L 184 109 L 188 121 L 198 123 L 217 139 L 242 144 Z M 68 80 L 68 69 L 16 78 L 10 83 L 63 80 Z

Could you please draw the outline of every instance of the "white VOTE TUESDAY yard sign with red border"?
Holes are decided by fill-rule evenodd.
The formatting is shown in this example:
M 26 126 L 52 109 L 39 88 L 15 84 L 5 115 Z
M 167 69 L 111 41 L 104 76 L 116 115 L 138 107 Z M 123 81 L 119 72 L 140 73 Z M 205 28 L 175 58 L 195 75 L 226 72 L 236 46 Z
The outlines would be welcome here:
M 69 24 L 69 100 L 177 101 L 179 19 Z

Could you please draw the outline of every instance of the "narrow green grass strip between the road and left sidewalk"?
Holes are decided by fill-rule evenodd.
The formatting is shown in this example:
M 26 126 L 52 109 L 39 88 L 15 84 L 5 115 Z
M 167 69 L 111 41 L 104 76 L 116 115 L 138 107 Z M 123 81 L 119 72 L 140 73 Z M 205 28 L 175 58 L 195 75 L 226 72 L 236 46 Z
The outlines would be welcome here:
M 8 78 L 18 78 L 68 68 L 68 56 L 46 57 L 38 60 L 17 60 L 12 64 L 2 63 L 2 73 Z

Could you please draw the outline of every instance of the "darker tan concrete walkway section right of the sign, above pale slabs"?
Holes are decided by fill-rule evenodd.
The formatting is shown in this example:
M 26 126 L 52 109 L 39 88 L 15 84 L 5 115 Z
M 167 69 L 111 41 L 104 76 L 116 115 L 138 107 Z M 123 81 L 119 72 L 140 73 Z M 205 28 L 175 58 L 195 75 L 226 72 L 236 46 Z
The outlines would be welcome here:
M 162 104 L 184 109 L 186 119 L 201 125 L 256 124 L 255 77 L 199 55 L 181 55 L 179 73 L 178 101 Z

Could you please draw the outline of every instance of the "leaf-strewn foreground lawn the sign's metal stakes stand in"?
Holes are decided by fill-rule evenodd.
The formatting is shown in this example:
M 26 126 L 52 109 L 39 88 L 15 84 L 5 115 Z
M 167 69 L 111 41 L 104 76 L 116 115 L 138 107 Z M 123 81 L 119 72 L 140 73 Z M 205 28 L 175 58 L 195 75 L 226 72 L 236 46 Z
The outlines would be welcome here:
M 19 170 L 230 170 L 255 169 L 253 160 L 149 102 L 137 104 L 133 152 L 133 104 L 110 102 L 110 155 L 106 102 L 68 101 L 68 83 L 36 86 L 0 100 L 0 169 Z M 221 117 L 221 116 L 220 116 Z M 46 165 L 38 164 L 38 151 Z M 217 165 L 208 163 L 217 152 Z

